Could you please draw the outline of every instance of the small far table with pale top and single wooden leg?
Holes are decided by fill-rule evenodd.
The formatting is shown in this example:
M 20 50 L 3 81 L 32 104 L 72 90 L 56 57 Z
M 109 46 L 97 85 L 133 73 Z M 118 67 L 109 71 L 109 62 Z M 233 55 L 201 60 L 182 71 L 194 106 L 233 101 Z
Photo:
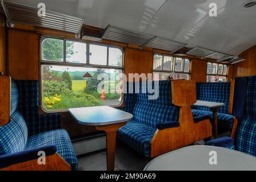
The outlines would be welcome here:
M 218 110 L 219 107 L 225 106 L 225 104 L 221 102 L 207 102 L 207 101 L 197 101 L 194 106 L 200 107 L 208 107 L 211 111 L 213 111 L 213 135 L 214 138 L 218 137 Z

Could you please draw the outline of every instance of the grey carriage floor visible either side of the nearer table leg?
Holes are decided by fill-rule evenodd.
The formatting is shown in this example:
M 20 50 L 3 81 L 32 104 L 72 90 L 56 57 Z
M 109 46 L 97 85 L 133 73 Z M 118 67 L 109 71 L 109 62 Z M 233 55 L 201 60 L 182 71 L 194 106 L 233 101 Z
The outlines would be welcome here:
M 124 143 L 117 144 L 115 171 L 142 171 L 151 159 L 139 155 Z M 78 157 L 78 170 L 106 171 L 106 150 Z

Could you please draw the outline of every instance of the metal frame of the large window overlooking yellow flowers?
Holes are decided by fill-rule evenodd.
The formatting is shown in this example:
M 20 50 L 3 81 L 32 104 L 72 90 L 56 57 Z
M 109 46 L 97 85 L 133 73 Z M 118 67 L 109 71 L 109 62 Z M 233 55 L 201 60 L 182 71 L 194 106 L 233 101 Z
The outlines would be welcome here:
M 42 42 L 45 39 L 59 39 L 63 40 L 63 61 L 46 61 L 42 60 Z M 83 63 L 70 63 L 66 62 L 66 41 L 71 41 L 71 42 L 80 42 L 80 43 L 85 43 L 86 44 L 86 64 Z M 98 45 L 98 46 L 105 46 L 107 47 L 107 65 L 95 65 L 95 64 L 90 64 L 90 44 Z M 109 66 L 109 48 L 118 48 L 122 52 L 122 67 L 115 67 L 115 66 Z M 117 69 L 123 73 L 124 71 L 124 48 L 121 46 L 113 46 L 109 44 L 104 44 L 104 43 L 97 43 L 97 42 L 91 42 L 87 40 L 77 40 L 77 39 L 70 39 L 70 38 L 62 38 L 58 36 L 48 36 L 48 35 L 41 35 L 40 42 L 39 42 L 39 112 L 41 113 L 66 113 L 68 110 L 53 110 L 49 111 L 46 110 L 43 105 L 42 105 L 42 65 L 59 65 L 59 66 L 65 66 L 65 67 L 79 67 L 79 68 L 101 68 L 101 69 Z M 124 82 L 122 81 L 122 84 Z M 124 97 L 123 93 L 121 93 L 122 100 L 119 103 L 119 105 L 111 106 L 111 107 L 120 107 L 123 105 L 124 102 Z

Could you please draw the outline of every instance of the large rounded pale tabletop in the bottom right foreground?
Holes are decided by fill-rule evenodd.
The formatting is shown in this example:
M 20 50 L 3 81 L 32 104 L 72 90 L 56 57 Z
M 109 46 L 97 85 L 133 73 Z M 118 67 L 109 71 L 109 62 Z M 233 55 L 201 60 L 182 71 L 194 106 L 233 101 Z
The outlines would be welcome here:
M 229 148 L 189 146 L 151 160 L 145 171 L 255 171 L 256 157 Z

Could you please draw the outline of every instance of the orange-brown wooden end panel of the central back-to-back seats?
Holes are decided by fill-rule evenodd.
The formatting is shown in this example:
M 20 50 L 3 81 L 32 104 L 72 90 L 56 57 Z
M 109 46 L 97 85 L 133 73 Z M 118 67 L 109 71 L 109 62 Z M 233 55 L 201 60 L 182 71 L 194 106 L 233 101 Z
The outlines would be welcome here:
M 187 146 L 212 135 L 209 119 L 195 123 L 191 105 L 197 101 L 195 81 L 171 82 L 173 104 L 179 106 L 179 127 L 157 130 L 151 140 L 151 157 Z

